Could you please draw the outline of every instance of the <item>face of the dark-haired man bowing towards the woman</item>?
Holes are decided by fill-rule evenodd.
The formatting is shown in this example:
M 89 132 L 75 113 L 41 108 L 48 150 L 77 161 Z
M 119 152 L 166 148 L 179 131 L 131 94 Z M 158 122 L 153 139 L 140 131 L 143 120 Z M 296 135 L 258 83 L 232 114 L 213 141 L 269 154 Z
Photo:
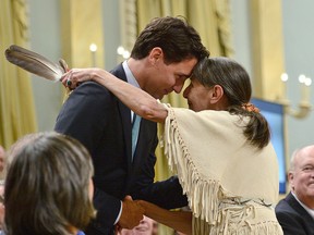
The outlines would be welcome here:
M 179 94 L 185 79 L 190 77 L 196 62 L 197 60 L 193 58 L 179 63 L 166 64 L 160 59 L 156 62 L 149 79 L 145 82 L 143 89 L 156 99 L 161 99 L 173 90 Z

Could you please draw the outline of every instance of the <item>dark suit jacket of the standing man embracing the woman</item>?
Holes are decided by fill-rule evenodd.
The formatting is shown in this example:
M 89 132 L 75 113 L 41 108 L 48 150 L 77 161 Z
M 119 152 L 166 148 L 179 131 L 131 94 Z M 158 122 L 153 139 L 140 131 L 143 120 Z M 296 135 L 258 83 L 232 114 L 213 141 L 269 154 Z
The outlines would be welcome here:
M 111 73 L 126 81 L 122 64 Z M 101 85 L 86 82 L 72 91 L 57 118 L 55 131 L 78 139 L 93 158 L 94 206 L 98 213 L 86 231 L 88 235 L 111 234 L 125 195 L 166 209 L 188 203 L 177 177 L 154 183 L 156 123 L 142 119 L 132 161 L 131 111 Z

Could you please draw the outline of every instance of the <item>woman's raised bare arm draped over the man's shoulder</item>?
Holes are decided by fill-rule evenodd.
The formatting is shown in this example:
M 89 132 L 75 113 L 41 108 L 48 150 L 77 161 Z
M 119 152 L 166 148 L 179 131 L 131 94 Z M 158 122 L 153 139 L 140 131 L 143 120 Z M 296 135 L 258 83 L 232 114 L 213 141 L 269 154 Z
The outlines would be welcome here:
M 69 82 L 71 81 L 71 82 Z M 94 81 L 109 89 L 125 106 L 144 119 L 164 123 L 168 111 L 164 104 L 144 90 L 134 87 L 101 69 L 73 69 L 63 74 L 61 82 L 64 86 L 75 88 L 80 83 Z

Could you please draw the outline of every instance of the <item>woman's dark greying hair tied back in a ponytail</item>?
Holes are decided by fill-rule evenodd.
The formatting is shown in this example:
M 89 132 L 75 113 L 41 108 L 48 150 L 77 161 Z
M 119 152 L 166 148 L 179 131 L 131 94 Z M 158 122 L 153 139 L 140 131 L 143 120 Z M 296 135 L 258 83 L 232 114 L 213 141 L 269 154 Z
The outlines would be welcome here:
M 250 102 L 252 87 L 249 74 L 239 63 L 228 58 L 204 59 L 194 67 L 192 79 L 197 79 L 206 87 L 221 86 L 229 102 L 227 110 L 231 114 L 250 118 L 244 129 L 247 140 L 258 148 L 269 143 L 270 132 L 266 119 L 259 112 L 242 108 Z

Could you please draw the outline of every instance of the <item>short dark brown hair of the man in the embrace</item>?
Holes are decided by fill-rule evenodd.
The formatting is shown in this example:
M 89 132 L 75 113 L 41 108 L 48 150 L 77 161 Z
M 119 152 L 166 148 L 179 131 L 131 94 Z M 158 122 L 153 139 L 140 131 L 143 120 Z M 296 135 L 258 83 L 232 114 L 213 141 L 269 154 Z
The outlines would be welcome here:
M 197 32 L 179 17 L 166 16 L 152 20 L 137 37 L 131 57 L 141 60 L 155 47 L 162 49 L 167 64 L 191 58 L 200 61 L 209 55 Z

